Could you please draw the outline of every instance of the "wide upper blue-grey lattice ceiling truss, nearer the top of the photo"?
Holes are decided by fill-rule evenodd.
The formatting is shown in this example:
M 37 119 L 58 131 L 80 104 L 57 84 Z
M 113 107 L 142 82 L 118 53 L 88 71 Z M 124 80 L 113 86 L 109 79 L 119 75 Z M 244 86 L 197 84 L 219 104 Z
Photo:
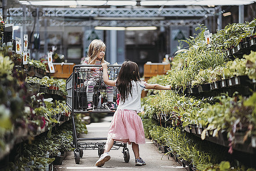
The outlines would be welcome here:
M 42 8 L 38 15 L 45 17 L 204 17 L 213 16 L 214 8 Z M 33 16 L 22 8 L 10 8 L 9 16 Z M 34 12 L 35 15 L 35 12 Z M 41 17 L 39 16 L 39 17 Z

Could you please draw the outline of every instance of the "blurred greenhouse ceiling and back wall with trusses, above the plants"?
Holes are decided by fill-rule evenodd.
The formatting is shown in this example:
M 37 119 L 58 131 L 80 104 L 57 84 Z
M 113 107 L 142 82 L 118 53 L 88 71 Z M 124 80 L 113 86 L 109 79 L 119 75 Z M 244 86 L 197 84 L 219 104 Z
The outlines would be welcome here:
M 199 24 L 210 32 L 256 16 L 254 0 L 2 0 L 3 18 L 14 37 L 29 35 L 32 58 L 52 48 L 79 64 L 90 41 L 102 39 L 106 60 L 161 62 L 193 36 Z M 183 46 L 186 46 L 183 44 Z

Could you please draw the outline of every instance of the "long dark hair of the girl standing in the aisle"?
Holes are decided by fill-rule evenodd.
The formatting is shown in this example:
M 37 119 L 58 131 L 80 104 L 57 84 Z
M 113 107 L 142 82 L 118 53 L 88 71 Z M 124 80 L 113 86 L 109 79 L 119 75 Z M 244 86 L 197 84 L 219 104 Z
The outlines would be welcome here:
M 129 93 L 132 96 L 131 81 L 140 81 L 139 67 L 135 62 L 125 61 L 116 79 L 116 87 L 120 93 L 120 100 L 125 102 Z

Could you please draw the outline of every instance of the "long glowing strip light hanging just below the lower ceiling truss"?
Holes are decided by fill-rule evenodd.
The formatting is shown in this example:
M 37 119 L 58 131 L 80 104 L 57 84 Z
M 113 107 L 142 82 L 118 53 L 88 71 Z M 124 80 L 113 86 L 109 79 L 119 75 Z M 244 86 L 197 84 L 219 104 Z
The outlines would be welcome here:
M 136 31 L 136 30 L 156 30 L 156 26 L 145 26 L 145 27 L 111 27 L 111 26 L 96 26 L 96 30 L 127 30 L 127 31 Z

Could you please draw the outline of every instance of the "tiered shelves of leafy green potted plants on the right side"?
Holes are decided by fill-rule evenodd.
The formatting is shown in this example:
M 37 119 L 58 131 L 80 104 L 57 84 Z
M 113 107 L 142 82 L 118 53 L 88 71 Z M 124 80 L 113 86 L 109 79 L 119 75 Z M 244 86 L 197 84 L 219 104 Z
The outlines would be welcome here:
M 172 70 L 158 76 L 159 82 L 156 78 L 148 80 L 149 83 L 170 84 L 174 91 L 148 92 L 140 116 L 145 125 L 157 122 L 154 126 L 157 128 L 146 126 L 145 135 L 149 134 L 160 145 L 172 148 L 172 156 L 178 155 L 181 163 L 186 161 L 186 165 L 194 165 L 191 168 L 207 171 L 227 165 L 230 170 L 232 166 L 241 169 L 233 159 L 243 163 L 244 169 L 256 168 L 250 162 L 256 157 L 255 23 L 253 20 L 226 26 L 212 35 L 211 46 L 205 44 L 201 34 L 205 27 L 198 28 L 201 30 L 198 35 L 185 40 L 189 49 L 174 57 Z M 179 135 L 175 134 L 177 131 Z M 186 137 L 180 134 L 186 134 Z M 179 141 L 179 136 L 183 140 Z M 197 137 L 192 147 L 188 147 L 187 136 Z M 207 145 L 202 149 L 195 148 L 205 141 L 221 145 L 215 151 L 221 155 L 224 152 L 226 158 L 217 155 L 218 159 L 214 160 L 216 154 Z M 175 142 L 181 144 L 175 145 Z M 222 148 L 225 150 L 221 152 Z M 185 153 L 190 150 L 191 156 L 194 152 L 204 155 L 192 159 L 190 152 Z M 201 160 L 207 155 L 210 161 Z M 230 155 L 232 157 L 227 157 Z M 242 159 L 243 155 L 247 158 Z

